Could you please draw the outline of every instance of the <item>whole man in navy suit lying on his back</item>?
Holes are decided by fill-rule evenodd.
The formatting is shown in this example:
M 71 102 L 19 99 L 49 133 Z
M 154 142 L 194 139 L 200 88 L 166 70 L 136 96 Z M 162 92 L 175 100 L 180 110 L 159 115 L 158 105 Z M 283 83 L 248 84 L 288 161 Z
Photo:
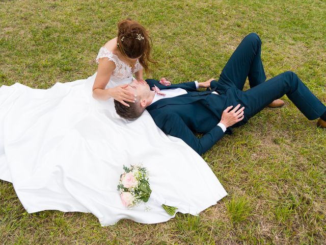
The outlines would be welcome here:
M 134 80 L 126 89 L 137 95 L 137 101 L 128 103 L 130 107 L 115 101 L 116 111 L 123 118 L 134 119 L 147 109 L 162 131 L 181 138 L 200 155 L 225 133 L 230 134 L 229 127 L 246 124 L 267 105 L 282 106 L 284 103 L 277 99 L 284 94 L 309 120 L 320 117 L 317 126 L 326 128 L 326 107 L 294 72 L 286 71 L 265 82 L 260 49 L 258 35 L 247 35 L 222 70 L 219 81 L 165 86 L 152 79 Z M 251 88 L 242 91 L 247 77 Z M 199 87 L 207 90 L 198 91 Z M 193 132 L 203 136 L 199 139 Z

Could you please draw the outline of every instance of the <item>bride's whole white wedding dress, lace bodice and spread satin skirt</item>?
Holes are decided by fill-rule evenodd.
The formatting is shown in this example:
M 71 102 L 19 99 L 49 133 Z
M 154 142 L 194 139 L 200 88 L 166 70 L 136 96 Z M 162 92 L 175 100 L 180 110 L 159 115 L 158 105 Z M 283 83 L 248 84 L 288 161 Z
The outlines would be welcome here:
M 96 58 L 116 64 L 107 87 L 130 83 L 132 70 L 106 48 Z M 207 163 L 181 139 L 165 135 L 147 111 L 120 118 L 113 100 L 92 97 L 96 77 L 33 89 L 0 88 L 0 179 L 12 182 L 27 212 L 91 212 L 102 226 L 123 218 L 152 224 L 178 212 L 198 214 L 227 194 Z M 123 165 L 148 168 L 152 195 L 133 209 L 122 205 L 117 185 Z M 1 205 L 1 204 L 0 204 Z

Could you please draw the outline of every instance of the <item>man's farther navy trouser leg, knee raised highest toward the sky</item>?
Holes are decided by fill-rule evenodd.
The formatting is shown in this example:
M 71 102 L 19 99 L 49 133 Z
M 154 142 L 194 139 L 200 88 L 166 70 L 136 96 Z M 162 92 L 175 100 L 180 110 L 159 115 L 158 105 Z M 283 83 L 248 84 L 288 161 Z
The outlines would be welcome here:
M 219 82 L 240 90 L 247 77 L 251 88 L 264 82 L 266 76 L 260 51 L 261 40 L 256 33 L 244 37 L 223 68 Z

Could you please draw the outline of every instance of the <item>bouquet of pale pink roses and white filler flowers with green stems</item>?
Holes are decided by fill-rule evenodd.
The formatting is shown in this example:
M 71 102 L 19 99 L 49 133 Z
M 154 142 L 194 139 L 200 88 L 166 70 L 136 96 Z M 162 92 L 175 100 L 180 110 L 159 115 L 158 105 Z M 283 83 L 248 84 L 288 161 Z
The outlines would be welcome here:
M 131 208 L 139 205 L 141 202 L 146 203 L 152 193 L 148 182 L 148 171 L 142 165 L 123 165 L 124 173 L 120 175 L 118 191 L 122 204 Z M 161 205 L 168 214 L 173 215 L 177 208 Z

